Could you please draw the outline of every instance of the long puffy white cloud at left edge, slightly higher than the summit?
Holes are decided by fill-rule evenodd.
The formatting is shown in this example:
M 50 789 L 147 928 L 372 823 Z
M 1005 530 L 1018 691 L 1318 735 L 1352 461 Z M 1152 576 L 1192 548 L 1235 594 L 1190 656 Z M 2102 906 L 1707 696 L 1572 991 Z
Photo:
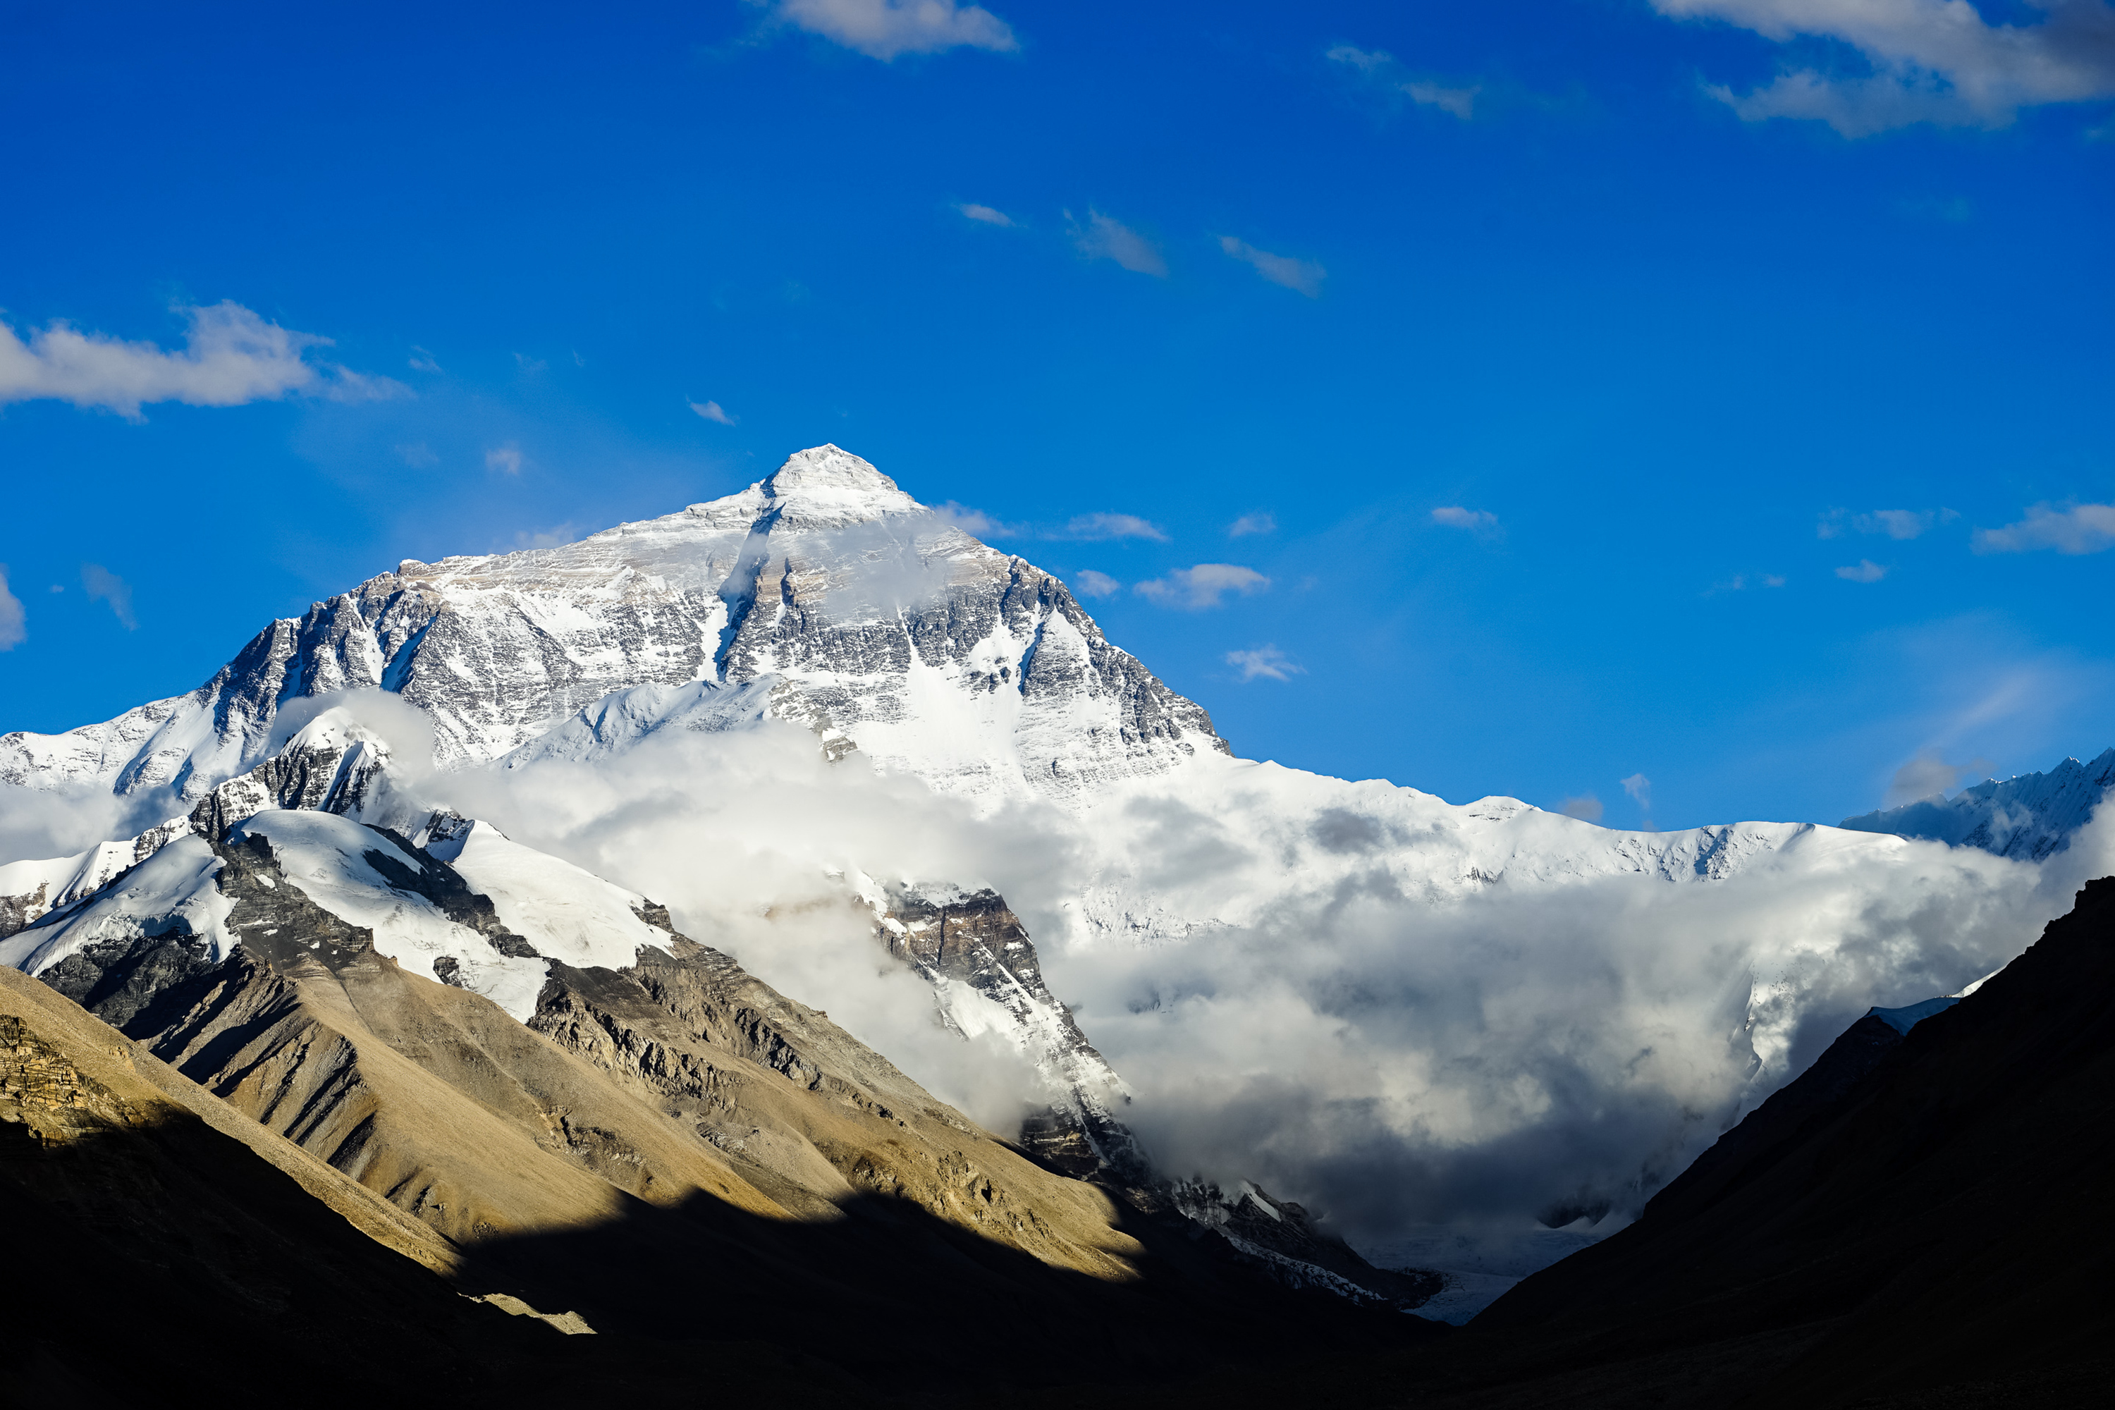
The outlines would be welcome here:
M 0 406 L 49 397 L 137 419 L 148 402 L 243 406 L 277 402 L 288 393 L 334 402 L 410 395 L 408 387 L 387 376 L 309 361 L 309 349 L 330 347 L 330 338 L 279 328 L 241 304 L 186 307 L 180 313 L 190 321 L 180 353 L 85 334 L 63 319 L 34 330 L 23 342 L 0 323 Z

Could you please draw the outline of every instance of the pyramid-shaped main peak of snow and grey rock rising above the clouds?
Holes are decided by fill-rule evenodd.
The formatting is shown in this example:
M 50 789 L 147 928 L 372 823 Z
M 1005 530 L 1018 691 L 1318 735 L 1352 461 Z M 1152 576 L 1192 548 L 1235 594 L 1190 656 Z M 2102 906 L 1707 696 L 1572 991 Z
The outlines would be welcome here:
M 199 799 L 264 759 L 286 702 L 353 687 L 425 710 L 442 765 L 497 759 L 635 687 L 662 693 L 632 700 L 628 729 L 723 727 L 734 702 L 736 719 L 795 719 L 833 753 L 857 740 L 971 795 L 1070 799 L 1225 753 L 1064 583 L 819 446 L 740 495 L 567 548 L 404 562 L 271 624 L 190 695 L 0 736 L 0 780 Z M 548 748 L 592 750 L 609 725 L 582 715 Z

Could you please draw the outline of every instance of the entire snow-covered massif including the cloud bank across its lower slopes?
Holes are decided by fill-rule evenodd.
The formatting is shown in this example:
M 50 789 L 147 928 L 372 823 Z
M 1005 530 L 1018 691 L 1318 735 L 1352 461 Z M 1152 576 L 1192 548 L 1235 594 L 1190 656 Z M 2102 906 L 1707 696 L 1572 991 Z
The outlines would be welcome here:
M 429 725 L 440 774 L 341 691 Z M 711 774 L 736 755 L 761 763 Z M 1808 1025 L 2018 953 L 2047 917 L 2026 858 L 2056 856 L 1973 829 L 1952 850 L 1624 833 L 1235 759 L 1064 583 L 833 446 L 569 548 L 400 564 L 192 695 L 0 738 L 0 780 L 167 799 L 137 839 L 0 867 L 0 960 L 70 994 L 148 1002 L 343 930 L 535 1023 L 560 966 L 666 941 L 654 894 L 840 1015 L 825 981 L 916 975 L 888 989 L 920 1010 L 907 1042 L 937 1013 L 960 1053 L 1019 1059 L 1022 1148 L 1214 1175 L 1134 1194 L 1309 1264 L 1299 1205 L 1225 1190 L 1265 1180 L 1368 1228 L 1635 1205 L 1796 1068 Z M 2047 829 L 2090 812 L 2064 789 Z M 740 907 L 850 939 L 772 968 L 793 922 Z

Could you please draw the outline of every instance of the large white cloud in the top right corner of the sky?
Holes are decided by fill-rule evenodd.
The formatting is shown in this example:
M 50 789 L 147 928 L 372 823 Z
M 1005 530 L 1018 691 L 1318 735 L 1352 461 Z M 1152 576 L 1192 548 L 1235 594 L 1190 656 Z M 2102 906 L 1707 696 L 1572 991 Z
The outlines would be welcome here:
M 1652 0 L 1677 19 L 1722 19 L 1768 40 L 1840 40 L 1870 74 L 1787 70 L 1766 87 L 1709 93 L 1741 118 L 1813 118 L 1846 137 L 1935 123 L 2005 127 L 2020 108 L 2115 95 L 2115 8 L 2030 0 L 2037 25 L 1986 23 L 1967 0 Z

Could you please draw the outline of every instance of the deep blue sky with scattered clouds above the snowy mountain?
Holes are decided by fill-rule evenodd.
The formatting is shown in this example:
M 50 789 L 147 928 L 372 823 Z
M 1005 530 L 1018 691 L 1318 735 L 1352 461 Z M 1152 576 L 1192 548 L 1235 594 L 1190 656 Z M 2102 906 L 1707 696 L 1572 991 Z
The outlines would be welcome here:
M 434 8 L 0 4 L 0 727 L 838 442 L 1248 757 L 2115 744 L 2102 0 Z

